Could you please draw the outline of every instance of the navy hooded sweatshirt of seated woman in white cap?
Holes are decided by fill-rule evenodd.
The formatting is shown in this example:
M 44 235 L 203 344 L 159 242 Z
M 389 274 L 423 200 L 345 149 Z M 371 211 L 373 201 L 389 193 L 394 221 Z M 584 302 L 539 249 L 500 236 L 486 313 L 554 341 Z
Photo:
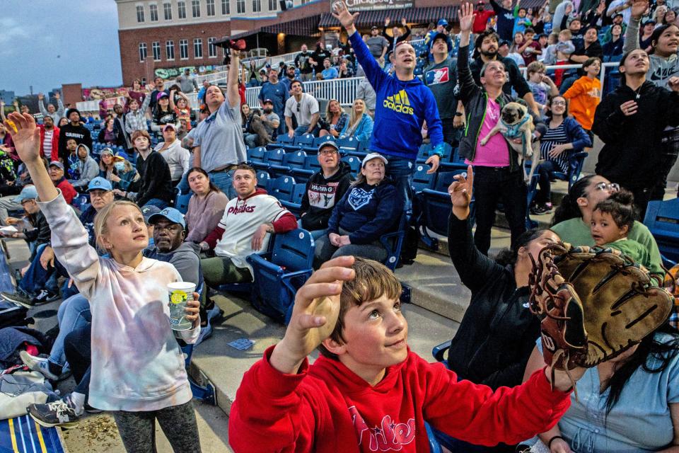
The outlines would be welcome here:
M 349 188 L 332 210 L 327 232 L 339 234 L 342 228 L 350 232 L 352 243 L 371 243 L 397 228 L 401 212 L 403 202 L 391 180 L 378 185 L 361 183 Z

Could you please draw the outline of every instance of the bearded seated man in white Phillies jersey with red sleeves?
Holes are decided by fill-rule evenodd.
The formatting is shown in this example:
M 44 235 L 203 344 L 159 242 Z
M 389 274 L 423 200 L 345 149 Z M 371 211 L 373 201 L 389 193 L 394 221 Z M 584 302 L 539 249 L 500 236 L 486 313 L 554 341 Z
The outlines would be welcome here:
M 266 251 L 273 233 L 297 228 L 297 219 L 280 202 L 257 188 L 257 173 L 248 164 L 238 164 L 233 172 L 233 188 L 238 196 L 226 204 L 224 217 L 199 245 L 214 251 L 214 258 L 200 261 L 205 283 L 217 287 L 225 283 L 252 282 L 253 268 L 245 258 Z

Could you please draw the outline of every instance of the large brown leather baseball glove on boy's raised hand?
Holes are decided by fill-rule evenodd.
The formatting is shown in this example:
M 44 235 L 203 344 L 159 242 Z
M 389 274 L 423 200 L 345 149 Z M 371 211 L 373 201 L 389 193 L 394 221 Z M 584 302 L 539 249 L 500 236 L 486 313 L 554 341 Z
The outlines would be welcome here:
M 673 298 L 649 272 L 611 248 L 557 243 L 530 275 L 547 365 L 594 367 L 639 343 L 670 315 Z

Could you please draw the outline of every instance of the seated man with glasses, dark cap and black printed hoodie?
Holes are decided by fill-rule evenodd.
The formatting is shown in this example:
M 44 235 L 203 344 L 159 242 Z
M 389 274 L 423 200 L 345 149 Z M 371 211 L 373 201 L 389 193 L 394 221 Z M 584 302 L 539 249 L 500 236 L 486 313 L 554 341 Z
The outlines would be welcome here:
M 313 239 L 327 234 L 332 209 L 347 193 L 353 179 L 349 164 L 340 161 L 340 149 L 335 142 L 320 144 L 317 157 L 320 171 L 313 173 L 306 183 L 298 221 Z

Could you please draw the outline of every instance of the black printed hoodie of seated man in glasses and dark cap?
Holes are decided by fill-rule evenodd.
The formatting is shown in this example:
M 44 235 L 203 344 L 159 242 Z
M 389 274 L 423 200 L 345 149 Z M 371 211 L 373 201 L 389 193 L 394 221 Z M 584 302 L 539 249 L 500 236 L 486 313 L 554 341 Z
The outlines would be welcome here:
M 306 183 L 306 190 L 302 197 L 301 217 L 302 228 L 308 231 L 326 229 L 327 221 L 332 215 L 332 208 L 337 205 L 349 185 L 352 183 L 352 168 L 346 162 L 340 161 L 337 173 L 325 179 L 323 171 L 313 173 Z

